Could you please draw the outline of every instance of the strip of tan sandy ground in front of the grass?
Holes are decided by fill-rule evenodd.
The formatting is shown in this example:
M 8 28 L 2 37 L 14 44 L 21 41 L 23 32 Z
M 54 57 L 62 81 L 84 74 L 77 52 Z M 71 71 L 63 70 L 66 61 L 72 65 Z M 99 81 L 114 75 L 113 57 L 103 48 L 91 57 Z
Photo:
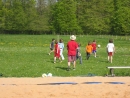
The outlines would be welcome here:
M 130 98 L 130 77 L 0 78 L 0 98 Z

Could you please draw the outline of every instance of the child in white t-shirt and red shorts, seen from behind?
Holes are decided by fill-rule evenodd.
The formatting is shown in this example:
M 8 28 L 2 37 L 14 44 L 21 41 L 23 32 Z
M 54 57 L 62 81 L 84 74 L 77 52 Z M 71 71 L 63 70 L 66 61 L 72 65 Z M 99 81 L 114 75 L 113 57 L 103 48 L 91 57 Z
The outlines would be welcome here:
M 113 40 L 110 39 L 109 43 L 107 44 L 108 62 L 110 61 L 112 63 L 114 52 L 115 52 L 115 46 Z

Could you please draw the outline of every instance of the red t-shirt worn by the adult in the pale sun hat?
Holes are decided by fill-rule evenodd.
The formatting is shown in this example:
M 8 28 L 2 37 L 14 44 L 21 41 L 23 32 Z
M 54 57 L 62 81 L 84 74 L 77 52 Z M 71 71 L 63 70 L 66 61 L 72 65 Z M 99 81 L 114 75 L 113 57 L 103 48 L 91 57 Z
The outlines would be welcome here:
M 76 56 L 76 49 L 77 48 L 78 48 L 77 42 L 75 42 L 74 40 L 70 40 L 67 43 L 68 55 Z

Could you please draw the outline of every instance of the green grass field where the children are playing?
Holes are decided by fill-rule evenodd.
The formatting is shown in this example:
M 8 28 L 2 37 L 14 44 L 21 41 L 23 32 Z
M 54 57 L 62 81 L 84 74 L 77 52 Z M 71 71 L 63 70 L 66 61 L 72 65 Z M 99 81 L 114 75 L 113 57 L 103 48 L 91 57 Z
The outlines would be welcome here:
M 67 50 L 64 49 L 65 60 L 53 63 L 54 55 L 48 55 L 51 39 L 62 38 L 66 46 L 69 35 L 0 35 L 0 73 L 3 77 L 41 77 L 43 73 L 53 76 L 105 76 L 109 73 L 106 66 L 130 66 L 130 37 L 106 35 L 78 35 L 76 41 L 81 43 L 83 64 L 77 60 L 76 70 L 66 71 Z M 114 39 L 116 54 L 113 63 L 107 62 L 106 45 L 109 38 Z M 97 49 L 97 58 L 91 55 L 86 60 L 85 47 L 88 41 L 96 39 L 101 47 Z M 116 76 L 130 76 L 130 69 L 115 69 Z

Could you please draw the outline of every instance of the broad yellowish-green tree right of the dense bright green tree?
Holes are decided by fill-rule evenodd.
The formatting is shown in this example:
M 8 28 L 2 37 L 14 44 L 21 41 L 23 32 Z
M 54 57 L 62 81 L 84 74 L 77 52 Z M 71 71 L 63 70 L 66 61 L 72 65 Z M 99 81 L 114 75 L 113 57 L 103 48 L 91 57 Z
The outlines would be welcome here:
M 77 0 L 77 17 L 84 34 L 110 31 L 111 0 Z

